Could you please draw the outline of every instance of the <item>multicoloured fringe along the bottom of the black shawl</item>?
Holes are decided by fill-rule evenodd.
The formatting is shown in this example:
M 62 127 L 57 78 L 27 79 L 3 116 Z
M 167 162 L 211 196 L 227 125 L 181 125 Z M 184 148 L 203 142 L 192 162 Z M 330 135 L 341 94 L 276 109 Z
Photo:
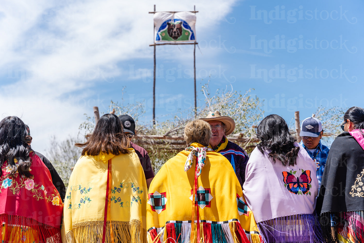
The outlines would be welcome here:
M 321 213 L 320 224 L 327 243 L 364 243 L 364 211 Z

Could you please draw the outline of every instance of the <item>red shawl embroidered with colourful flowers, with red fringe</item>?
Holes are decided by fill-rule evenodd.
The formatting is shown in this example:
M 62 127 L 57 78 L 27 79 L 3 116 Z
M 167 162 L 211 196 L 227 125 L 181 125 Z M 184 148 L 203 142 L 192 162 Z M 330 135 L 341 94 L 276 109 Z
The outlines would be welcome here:
M 20 177 L 18 172 L 11 176 L 7 161 L 1 167 L 2 238 L 7 242 L 15 235 L 21 235 L 22 239 L 61 242 L 62 200 L 52 184 L 51 174 L 46 165 L 34 152 L 30 153 L 30 158 L 30 178 Z M 14 161 L 18 164 L 16 159 Z

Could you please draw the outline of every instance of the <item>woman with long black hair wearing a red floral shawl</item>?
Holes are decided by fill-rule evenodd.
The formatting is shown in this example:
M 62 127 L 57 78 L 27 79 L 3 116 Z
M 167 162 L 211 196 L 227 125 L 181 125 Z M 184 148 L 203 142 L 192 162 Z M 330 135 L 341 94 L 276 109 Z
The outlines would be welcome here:
M 61 242 L 63 203 L 16 116 L 0 122 L 1 242 Z

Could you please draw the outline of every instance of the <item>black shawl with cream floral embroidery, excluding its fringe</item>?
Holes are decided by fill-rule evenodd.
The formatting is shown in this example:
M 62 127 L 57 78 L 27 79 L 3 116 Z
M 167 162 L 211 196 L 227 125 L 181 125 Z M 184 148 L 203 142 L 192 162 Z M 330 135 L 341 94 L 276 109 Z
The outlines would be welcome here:
M 317 212 L 364 210 L 363 175 L 364 150 L 350 133 L 343 132 L 333 141 L 327 157 L 317 198 Z M 361 176 L 363 184 L 359 180 Z M 353 188 L 353 185 L 357 187 Z

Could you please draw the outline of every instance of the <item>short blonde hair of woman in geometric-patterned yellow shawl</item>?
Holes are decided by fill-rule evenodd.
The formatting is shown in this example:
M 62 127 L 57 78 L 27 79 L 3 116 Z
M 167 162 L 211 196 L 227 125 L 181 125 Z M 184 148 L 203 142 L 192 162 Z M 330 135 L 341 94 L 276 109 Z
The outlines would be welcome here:
M 183 137 L 186 140 L 187 147 L 194 142 L 207 147 L 210 144 L 211 136 L 210 124 L 198 119 L 187 123 Z

